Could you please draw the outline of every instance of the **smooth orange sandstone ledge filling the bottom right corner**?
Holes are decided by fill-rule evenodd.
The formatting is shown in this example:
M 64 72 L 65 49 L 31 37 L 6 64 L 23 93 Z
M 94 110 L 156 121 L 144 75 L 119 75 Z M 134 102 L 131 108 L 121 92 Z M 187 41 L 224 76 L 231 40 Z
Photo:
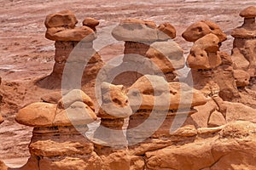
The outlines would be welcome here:
M 217 138 L 146 152 L 147 168 L 191 170 L 254 168 L 256 166 L 253 161 L 256 157 L 254 132 L 255 124 L 251 122 L 230 123 L 217 135 Z

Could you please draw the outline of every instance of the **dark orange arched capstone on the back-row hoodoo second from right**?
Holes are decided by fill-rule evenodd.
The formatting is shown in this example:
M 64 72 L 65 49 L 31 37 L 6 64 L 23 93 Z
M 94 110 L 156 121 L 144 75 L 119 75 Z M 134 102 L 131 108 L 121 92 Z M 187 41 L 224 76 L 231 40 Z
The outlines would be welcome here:
M 219 42 L 224 42 L 227 39 L 227 36 L 219 26 L 210 20 L 201 20 L 192 24 L 183 32 L 182 36 L 188 42 L 195 42 L 210 33 L 216 35 Z

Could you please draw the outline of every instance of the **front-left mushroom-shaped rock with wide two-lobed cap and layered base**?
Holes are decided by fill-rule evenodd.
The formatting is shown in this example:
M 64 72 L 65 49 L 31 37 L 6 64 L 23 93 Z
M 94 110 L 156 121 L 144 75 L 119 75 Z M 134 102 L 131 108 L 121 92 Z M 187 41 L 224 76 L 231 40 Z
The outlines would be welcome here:
M 93 144 L 82 135 L 88 130 L 86 124 L 96 120 L 94 105 L 83 91 L 74 89 L 57 104 L 27 105 L 17 113 L 15 120 L 34 127 L 29 144 L 31 158 L 24 169 L 32 164 L 38 169 L 68 169 L 68 162 L 73 169 L 81 166 L 101 169 Z

